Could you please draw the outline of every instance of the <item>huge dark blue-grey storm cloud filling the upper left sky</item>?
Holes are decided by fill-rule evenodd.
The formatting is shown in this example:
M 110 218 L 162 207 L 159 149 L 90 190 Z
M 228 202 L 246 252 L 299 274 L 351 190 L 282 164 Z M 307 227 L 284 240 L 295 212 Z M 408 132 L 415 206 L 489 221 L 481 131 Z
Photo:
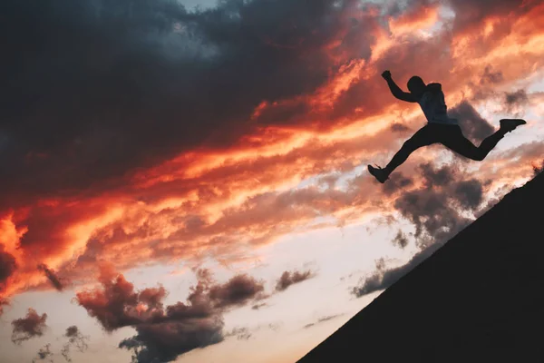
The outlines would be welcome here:
M 10 203 L 105 188 L 196 145 L 227 146 L 262 101 L 324 84 L 331 56 L 370 54 L 370 22 L 349 19 L 355 2 L 335 4 L 228 0 L 187 13 L 170 0 L 2 2 L 0 188 Z M 340 31 L 343 43 L 324 50 Z

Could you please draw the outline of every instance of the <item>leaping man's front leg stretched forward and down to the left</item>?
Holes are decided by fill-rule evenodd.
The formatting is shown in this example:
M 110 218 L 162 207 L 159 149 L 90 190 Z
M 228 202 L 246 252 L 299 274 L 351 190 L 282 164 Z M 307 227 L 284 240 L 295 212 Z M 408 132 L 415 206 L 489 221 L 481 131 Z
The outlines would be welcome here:
M 410 139 L 403 143 L 401 150 L 394 154 L 393 159 L 384 169 L 374 168 L 374 166 L 368 165 L 368 171 L 374 175 L 378 182 L 384 183 L 389 178 L 389 174 L 405 162 L 412 152 L 434 142 L 438 142 L 438 139 L 435 137 L 435 133 L 432 132 L 432 126 L 425 125 L 418 132 L 415 132 Z

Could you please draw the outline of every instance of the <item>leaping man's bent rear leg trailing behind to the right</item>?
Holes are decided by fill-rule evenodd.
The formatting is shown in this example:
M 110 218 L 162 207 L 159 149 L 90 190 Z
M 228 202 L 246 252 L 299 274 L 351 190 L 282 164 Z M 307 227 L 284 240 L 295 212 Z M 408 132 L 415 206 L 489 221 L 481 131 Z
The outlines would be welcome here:
M 476 147 L 471 141 L 464 137 L 461 128 L 456 127 L 454 132 L 444 134 L 441 142 L 448 149 L 457 152 L 460 155 L 474 161 L 481 162 L 500 142 L 507 132 L 511 132 L 520 124 L 524 124 L 524 120 L 500 120 L 500 129 L 485 138 L 480 146 Z

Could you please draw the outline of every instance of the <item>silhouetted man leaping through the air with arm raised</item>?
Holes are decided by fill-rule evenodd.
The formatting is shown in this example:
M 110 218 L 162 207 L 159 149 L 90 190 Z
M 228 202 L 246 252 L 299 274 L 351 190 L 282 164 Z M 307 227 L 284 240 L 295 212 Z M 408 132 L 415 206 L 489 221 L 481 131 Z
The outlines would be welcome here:
M 444 93 L 442 93 L 440 83 L 425 84 L 420 77 L 414 75 L 408 81 L 410 93 L 406 93 L 394 83 L 389 71 L 385 71 L 382 77 L 389 84 L 393 96 L 409 103 L 419 103 L 428 121 L 422 129 L 415 132 L 409 140 L 403 143 L 401 150 L 393 156 L 393 159 L 385 168 L 374 168 L 374 166 L 368 165 L 368 172 L 382 183 L 389 179 L 389 174 L 405 162 L 412 152 L 422 146 L 440 142 L 448 149 L 466 158 L 482 161 L 507 132 L 511 132 L 520 124 L 526 123 L 520 119 L 502 119 L 500 120 L 500 129 L 477 147 L 464 137 L 457 120 L 448 117 Z

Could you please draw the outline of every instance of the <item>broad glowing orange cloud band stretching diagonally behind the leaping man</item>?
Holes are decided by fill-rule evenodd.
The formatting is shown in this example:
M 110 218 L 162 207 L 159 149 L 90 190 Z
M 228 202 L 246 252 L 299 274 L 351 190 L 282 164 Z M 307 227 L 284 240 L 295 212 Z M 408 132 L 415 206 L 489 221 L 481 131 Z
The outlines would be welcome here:
M 352 172 L 362 163 L 385 160 L 405 137 L 391 131 L 393 123 L 413 130 L 423 125 L 416 104 L 397 102 L 389 93 L 380 77 L 384 69 L 391 69 L 401 86 L 415 72 L 427 82 L 441 82 L 452 108 L 481 91 L 478 84 L 488 64 L 502 74 L 497 87 L 541 65 L 543 14 L 544 5 L 536 5 L 518 17 L 498 22 L 497 15 L 490 15 L 471 25 L 491 42 L 461 31 L 438 32 L 432 41 L 399 40 L 399 35 L 437 21 L 432 6 L 391 20 L 392 34 L 377 25 L 375 8 L 357 10 L 353 22 L 343 13 L 338 32 L 321 44 L 332 64 L 327 82 L 296 96 L 255 103 L 248 132 L 236 142 L 170 155 L 103 182 L 96 190 L 21 197 L 2 211 L 0 243 L 17 264 L 4 294 L 47 287 L 38 269 L 41 264 L 83 283 L 83 270 L 101 260 L 118 261 L 120 270 L 199 259 L 205 253 L 243 260 L 241 246 L 257 247 L 305 228 L 360 221 L 391 208 L 394 193 L 381 205 L 374 204 L 381 186 L 367 174 L 353 176 L 346 189 L 333 184 L 296 186 L 307 178 Z M 366 33 L 354 33 L 352 24 L 364 21 L 369 25 L 360 31 Z M 506 26 L 511 27 L 508 34 L 502 31 Z M 378 43 L 366 42 L 368 49 L 355 46 L 373 36 Z M 287 45 L 296 48 L 304 42 Z M 448 46 L 451 54 L 444 54 Z M 370 55 L 364 57 L 364 52 Z M 493 175 L 494 182 L 513 181 L 529 172 L 528 162 L 539 156 L 536 150 L 517 150 L 521 162 L 512 162 L 512 155 L 486 160 L 479 164 L 481 175 Z M 43 157 L 36 155 L 31 159 Z M 406 165 L 432 158 L 430 150 L 422 150 Z M 413 187 L 417 186 L 416 182 Z M 323 216 L 335 221 L 311 223 Z

